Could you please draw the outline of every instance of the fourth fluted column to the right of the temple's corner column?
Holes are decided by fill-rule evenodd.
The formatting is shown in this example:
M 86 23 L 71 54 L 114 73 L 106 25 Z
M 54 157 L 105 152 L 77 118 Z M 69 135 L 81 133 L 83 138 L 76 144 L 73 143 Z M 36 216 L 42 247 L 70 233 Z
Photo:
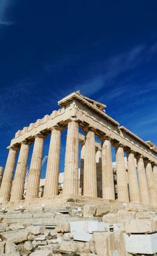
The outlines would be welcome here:
M 136 172 L 134 152 L 128 152 L 128 186 L 130 202 L 140 203 L 140 190 Z

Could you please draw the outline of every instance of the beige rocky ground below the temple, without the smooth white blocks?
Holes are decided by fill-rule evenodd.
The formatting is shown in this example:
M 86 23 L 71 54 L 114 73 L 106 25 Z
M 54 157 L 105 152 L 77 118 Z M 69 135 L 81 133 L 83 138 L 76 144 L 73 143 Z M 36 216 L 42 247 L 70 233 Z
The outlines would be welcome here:
M 90 241 L 84 241 L 83 236 L 81 241 L 80 233 L 77 241 L 71 222 L 81 220 L 106 223 L 106 230 L 92 231 Z M 60 211 L 44 207 L 32 211 L 24 208 L 4 211 L 3 208 L 0 215 L 0 255 L 132 256 L 126 251 L 124 234 L 156 231 L 156 209 L 139 205 L 108 203 L 96 206 L 71 202 Z

